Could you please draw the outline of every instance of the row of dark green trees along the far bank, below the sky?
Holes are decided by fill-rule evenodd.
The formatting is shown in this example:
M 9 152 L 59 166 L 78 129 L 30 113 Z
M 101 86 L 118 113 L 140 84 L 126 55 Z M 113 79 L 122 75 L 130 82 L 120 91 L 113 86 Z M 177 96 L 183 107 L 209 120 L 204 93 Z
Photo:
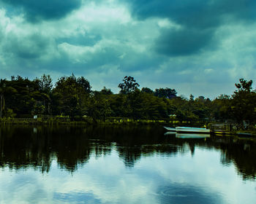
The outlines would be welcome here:
M 118 85 L 118 94 L 103 87 L 91 90 L 83 76 L 62 76 L 53 86 L 50 75 L 28 79 L 11 76 L 0 79 L 0 117 L 64 116 L 73 120 L 91 117 L 129 119 L 173 119 L 187 122 L 226 121 L 256 122 L 256 93 L 252 80 L 240 79 L 232 95 L 219 95 L 214 100 L 199 96 L 178 96 L 169 87 L 151 90 L 132 76 Z

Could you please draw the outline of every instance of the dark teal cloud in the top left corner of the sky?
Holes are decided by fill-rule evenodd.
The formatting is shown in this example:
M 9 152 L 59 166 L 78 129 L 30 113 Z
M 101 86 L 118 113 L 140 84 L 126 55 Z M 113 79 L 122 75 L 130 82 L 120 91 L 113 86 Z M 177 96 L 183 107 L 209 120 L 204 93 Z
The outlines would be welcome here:
M 78 9 L 81 0 L 0 0 L 13 7 L 14 10 L 24 12 L 30 22 L 51 20 L 64 17 L 74 9 Z

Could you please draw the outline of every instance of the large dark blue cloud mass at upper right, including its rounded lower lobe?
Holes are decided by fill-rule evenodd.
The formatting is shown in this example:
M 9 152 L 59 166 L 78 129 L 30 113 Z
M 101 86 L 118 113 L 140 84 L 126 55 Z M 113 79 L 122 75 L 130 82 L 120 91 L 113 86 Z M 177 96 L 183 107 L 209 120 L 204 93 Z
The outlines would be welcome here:
M 256 20 L 255 0 L 140 0 L 129 1 L 132 15 L 139 20 L 167 17 L 181 26 L 165 28 L 155 42 L 155 50 L 167 56 L 197 54 L 217 44 L 215 31 L 230 23 L 252 23 Z M 212 40 L 215 39 L 215 42 Z M 219 39 L 220 41 L 221 39 Z

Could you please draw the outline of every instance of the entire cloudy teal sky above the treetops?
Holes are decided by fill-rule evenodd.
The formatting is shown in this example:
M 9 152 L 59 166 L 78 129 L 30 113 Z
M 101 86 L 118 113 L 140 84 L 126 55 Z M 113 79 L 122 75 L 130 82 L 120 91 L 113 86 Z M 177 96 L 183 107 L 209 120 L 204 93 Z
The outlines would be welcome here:
M 118 92 L 124 76 L 178 95 L 256 82 L 255 0 L 0 0 L 0 78 L 85 76 Z M 254 86 L 255 87 L 255 86 Z

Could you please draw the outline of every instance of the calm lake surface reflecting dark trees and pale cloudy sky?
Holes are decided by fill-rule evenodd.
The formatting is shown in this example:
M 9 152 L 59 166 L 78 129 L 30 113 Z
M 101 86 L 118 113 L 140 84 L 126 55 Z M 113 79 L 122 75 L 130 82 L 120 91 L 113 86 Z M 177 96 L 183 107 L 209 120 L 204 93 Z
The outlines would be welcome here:
M 162 127 L 0 127 L 0 203 L 256 203 L 256 143 Z

